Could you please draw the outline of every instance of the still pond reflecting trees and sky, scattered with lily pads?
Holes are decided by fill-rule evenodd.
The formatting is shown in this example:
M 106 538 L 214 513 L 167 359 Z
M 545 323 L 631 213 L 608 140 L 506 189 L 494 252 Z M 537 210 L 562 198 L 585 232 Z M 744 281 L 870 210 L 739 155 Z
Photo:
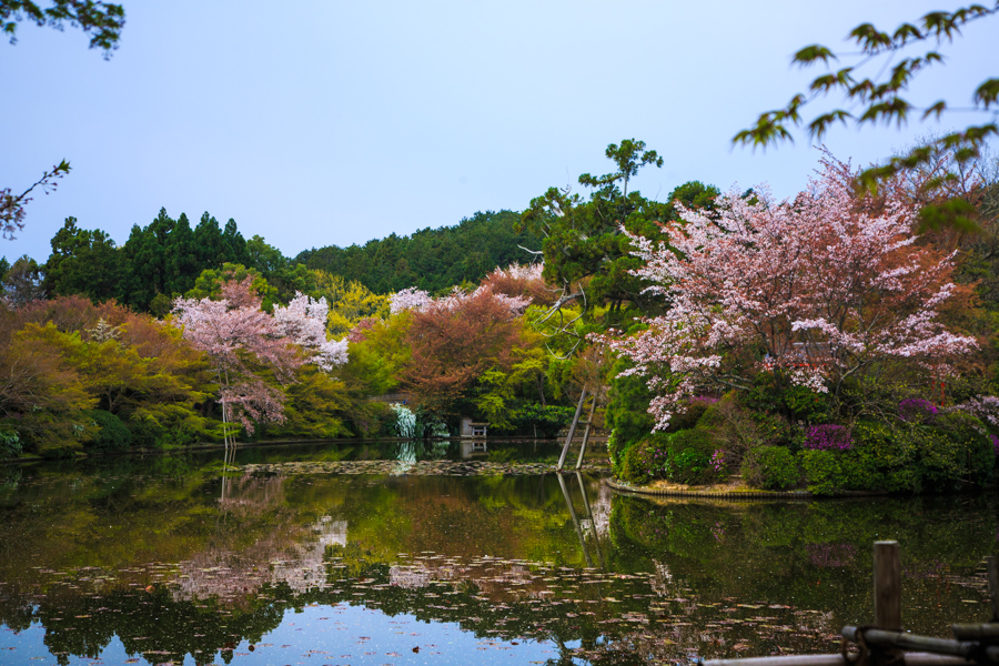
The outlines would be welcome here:
M 884 538 L 901 543 L 906 628 L 988 619 L 991 494 L 649 500 L 552 473 L 557 445 L 465 448 L 244 448 L 224 482 L 215 452 L 0 467 L 0 663 L 831 653 L 872 619 Z

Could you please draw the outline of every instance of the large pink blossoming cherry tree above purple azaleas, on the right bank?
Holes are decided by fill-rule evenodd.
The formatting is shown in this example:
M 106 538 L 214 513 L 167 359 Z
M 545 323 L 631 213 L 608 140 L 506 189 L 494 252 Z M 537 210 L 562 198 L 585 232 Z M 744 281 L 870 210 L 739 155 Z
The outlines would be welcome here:
M 625 374 L 648 377 L 656 428 L 689 396 L 748 389 L 760 372 L 839 394 L 875 366 L 946 374 L 976 349 L 938 320 L 960 287 L 953 255 L 918 243 L 916 210 L 858 201 L 849 165 L 823 165 L 794 200 L 733 191 L 716 213 L 683 210 L 665 242 L 632 235 L 645 262 L 635 274 L 668 307 L 646 331 L 606 340 L 634 363 Z

